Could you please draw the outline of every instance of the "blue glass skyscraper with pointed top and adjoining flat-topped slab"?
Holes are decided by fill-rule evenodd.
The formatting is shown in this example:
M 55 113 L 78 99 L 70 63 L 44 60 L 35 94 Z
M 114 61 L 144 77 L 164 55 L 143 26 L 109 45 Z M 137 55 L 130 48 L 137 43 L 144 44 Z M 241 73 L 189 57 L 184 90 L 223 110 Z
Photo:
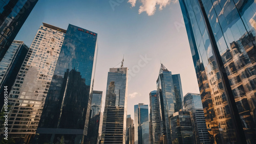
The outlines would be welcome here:
M 180 74 L 172 74 L 161 64 L 157 79 L 157 97 L 160 107 L 161 139 L 171 143 L 169 117 L 182 108 Z

